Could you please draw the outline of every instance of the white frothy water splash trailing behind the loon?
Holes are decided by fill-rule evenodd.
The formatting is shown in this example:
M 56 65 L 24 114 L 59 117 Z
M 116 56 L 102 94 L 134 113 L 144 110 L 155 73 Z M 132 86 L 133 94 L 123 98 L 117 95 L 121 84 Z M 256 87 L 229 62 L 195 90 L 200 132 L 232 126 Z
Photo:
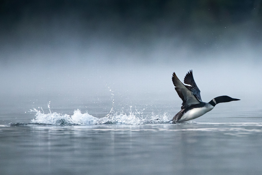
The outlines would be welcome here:
M 140 125 L 152 123 L 168 123 L 169 117 L 167 113 L 144 115 L 142 111 L 132 111 L 130 106 L 130 113 L 114 112 L 112 109 L 109 114 L 103 118 L 96 118 L 88 113 L 81 113 L 79 109 L 74 111 L 73 115 L 52 113 L 48 104 L 49 113 L 45 114 L 43 110 L 33 109 L 30 112 L 35 112 L 35 118 L 31 123 L 41 123 L 50 125 L 96 125 L 96 124 L 125 124 L 125 125 Z

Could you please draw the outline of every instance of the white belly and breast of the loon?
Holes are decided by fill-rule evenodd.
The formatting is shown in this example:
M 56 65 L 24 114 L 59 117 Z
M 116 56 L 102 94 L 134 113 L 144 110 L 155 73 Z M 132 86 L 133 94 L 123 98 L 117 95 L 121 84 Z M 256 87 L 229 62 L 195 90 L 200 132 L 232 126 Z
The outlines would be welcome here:
M 199 108 L 193 108 L 189 111 L 187 111 L 179 121 L 189 121 L 193 120 L 195 118 L 200 117 L 201 115 L 204 115 L 205 113 L 211 111 L 214 108 L 214 106 L 208 106 L 208 107 L 199 107 Z

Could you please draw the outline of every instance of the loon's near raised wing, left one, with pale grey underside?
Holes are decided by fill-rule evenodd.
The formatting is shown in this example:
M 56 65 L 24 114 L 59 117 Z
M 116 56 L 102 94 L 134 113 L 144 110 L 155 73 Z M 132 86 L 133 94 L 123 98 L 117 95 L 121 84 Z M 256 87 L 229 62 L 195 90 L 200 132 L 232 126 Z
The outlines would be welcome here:
M 173 73 L 172 81 L 178 96 L 183 101 L 181 109 L 185 109 L 191 105 L 200 103 L 198 99 L 196 99 L 193 92 L 187 89 L 187 87 L 177 78 L 177 75 L 175 73 Z

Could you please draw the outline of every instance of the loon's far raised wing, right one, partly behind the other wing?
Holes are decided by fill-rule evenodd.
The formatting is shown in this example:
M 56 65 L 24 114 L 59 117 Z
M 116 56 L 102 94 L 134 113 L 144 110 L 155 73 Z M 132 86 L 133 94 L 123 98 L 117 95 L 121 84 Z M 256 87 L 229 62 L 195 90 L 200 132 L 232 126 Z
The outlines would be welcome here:
M 184 79 L 184 83 L 190 85 L 190 86 L 187 86 L 187 85 L 185 86 L 187 87 L 187 89 L 193 92 L 193 94 L 195 95 L 196 99 L 198 99 L 198 101 L 202 102 L 202 99 L 200 96 L 200 90 L 198 89 L 198 86 L 195 84 L 192 70 L 187 72 L 187 75 L 185 76 L 185 79 Z

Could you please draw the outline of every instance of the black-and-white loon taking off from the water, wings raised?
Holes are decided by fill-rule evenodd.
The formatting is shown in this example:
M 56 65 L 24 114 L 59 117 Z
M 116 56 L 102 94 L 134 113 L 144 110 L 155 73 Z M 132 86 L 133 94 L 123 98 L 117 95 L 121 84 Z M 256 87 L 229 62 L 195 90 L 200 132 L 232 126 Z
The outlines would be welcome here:
M 181 110 L 174 116 L 172 123 L 181 123 L 184 121 L 189 121 L 195 118 L 198 118 L 205 113 L 211 111 L 217 104 L 224 102 L 237 101 L 240 99 L 231 98 L 228 96 L 219 96 L 212 99 L 210 102 L 202 102 L 200 96 L 200 90 L 195 84 L 193 78 L 193 72 L 190 70 L 185 76 L 184 85 L 178 78 L 175 73 L 173 73 L 172 81 L 177 91 L 178 96 L 182 99 Z

